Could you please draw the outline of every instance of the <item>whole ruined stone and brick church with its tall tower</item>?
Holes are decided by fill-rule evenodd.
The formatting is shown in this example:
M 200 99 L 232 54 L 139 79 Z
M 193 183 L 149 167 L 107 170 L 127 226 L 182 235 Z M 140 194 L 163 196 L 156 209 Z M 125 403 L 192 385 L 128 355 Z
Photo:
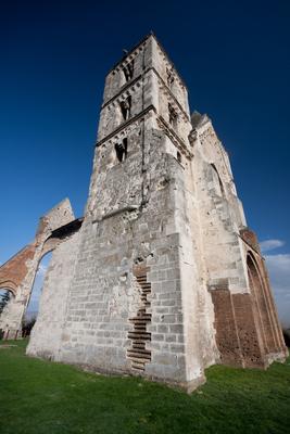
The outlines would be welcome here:
M 0 267 L 0 329 L 21 335 L 52 258 L 29 356 L 188 391 L 213 363 L 266 368 L 283 343 L 265 261 L 227 152 L 154 35 L 105 78 L 84 218 L 64 200 Z

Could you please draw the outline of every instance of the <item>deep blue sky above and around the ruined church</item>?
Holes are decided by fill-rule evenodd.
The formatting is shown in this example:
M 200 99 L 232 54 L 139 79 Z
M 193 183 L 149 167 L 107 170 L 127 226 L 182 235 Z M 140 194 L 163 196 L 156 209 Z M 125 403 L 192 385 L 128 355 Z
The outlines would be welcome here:
M 4 2 L 0 263 L 63 197 L 83 214 L 105 73 L 152 29 L 229 152 L 249 226 L 290 268 L 289 28 L 279 0 Z

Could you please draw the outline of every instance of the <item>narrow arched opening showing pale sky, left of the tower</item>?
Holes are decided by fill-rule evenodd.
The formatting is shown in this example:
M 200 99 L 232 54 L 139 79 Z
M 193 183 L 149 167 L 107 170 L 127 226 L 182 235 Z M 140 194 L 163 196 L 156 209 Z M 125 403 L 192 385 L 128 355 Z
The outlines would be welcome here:
M 42 286 L 47 273 L 47 269 L 49 267 L 49 263 L 51 259 L 52 252 L 48 252 L 45 256 L 42 256 L 38 269 L 35 276 L 35 281 L 33 285 L 33 290 L 30 293 L 29 302 L 25 311 L 25 316 L 23 319 L 23 334 L 29 335 L 30 331 L 36 322 L 38 310 L 39 310 L 39 301 L 42 292 Z

